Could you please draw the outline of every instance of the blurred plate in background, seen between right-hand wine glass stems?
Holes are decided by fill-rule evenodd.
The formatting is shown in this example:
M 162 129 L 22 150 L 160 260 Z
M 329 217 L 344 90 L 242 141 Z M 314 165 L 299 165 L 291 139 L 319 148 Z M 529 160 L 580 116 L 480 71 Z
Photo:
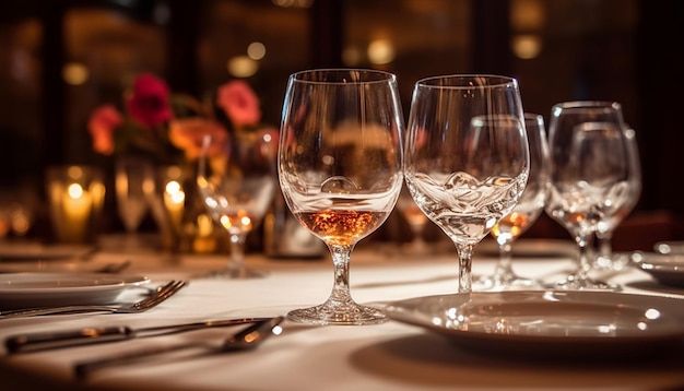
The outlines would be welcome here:
M 571 240 L 561 239 L 518 239 L 512 244 L 514 257 L 574 257 L 577 247 Z M 498 245 L 485 238 L 475 246 L 475 256 L 498 257 Z

